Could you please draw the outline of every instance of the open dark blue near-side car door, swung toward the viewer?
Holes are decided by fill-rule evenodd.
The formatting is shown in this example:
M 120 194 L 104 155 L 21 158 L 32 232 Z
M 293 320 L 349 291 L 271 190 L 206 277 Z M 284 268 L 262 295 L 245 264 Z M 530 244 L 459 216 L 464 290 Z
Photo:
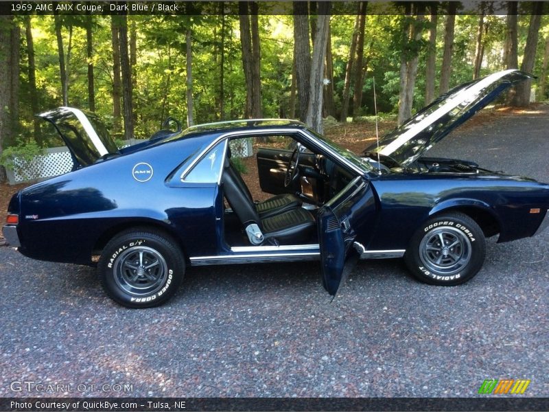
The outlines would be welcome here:
M 356 233 L 365 233 L 375 216 L 375 198 L 369 181 L 358 176 L 318 210 L 318 240 L 322 282 L 334 296 L 352 270 L 358 254 L 353 248 Z

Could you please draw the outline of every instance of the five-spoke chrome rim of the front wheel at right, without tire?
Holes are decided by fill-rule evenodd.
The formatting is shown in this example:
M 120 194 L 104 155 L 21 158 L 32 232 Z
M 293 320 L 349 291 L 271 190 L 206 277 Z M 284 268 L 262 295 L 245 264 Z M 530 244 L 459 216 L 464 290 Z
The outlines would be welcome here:
M 455 275 L 471 260 L 471 241 L 455 227 L 437 227 L 423 236 L 419 258 L 438 275 Z

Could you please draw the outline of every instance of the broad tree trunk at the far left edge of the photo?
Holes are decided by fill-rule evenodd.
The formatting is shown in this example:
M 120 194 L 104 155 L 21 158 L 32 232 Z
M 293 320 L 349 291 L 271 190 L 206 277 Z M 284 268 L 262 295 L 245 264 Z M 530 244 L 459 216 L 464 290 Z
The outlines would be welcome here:
M 0 155 L 19 131 L 19 27 L 13 16 L 0 16 Z M 5 170 L 0 166 L 0 181 Z

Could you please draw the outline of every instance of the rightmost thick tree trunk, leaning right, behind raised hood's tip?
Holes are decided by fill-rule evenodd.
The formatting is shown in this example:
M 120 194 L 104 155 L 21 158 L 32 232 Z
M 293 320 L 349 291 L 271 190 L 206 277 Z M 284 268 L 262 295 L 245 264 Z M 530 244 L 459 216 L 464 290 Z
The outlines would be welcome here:
M 520 69 L 526 73 L 532 73 L 537 50 L 537 39 L 539 37 L 539 25 L 541 23 L 541 12 L 543 12 L 544 3 L 533 2 L 532 16 L 530 16 L 530 26 L 528 27 L 528 38 L 526 38 L 526 47 L 524 48 L 524 57 Z M 532 80 L 528 79 L 515 86 L 515 98 L 513 106 L 525 107 L 530 104 L 530 89 Z

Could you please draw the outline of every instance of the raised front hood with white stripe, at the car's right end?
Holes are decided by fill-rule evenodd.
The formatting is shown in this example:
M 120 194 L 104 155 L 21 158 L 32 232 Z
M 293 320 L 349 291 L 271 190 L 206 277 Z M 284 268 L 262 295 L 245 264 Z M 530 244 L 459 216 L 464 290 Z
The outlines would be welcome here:
M 502 91 L 528 78 L 533 76 L 511 69 L 461 84 L 379 139 L 379 147 L 375 143 L 366 148 L 364 155 L 374 158 L 379 151 L 379 155 L 390 157 L 406 167 L 454 128 L 493 102 Z

